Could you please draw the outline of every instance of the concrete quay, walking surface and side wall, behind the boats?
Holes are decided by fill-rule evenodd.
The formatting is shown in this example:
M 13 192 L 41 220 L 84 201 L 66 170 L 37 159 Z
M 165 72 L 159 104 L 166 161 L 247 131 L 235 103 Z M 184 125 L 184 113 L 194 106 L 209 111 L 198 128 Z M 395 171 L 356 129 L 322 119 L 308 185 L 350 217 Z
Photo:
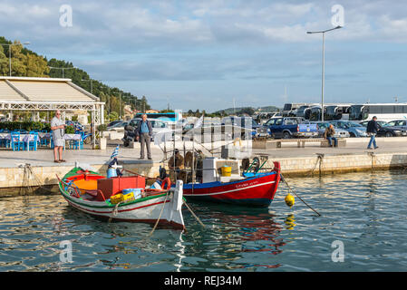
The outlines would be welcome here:
M 305 148 L 297 148 L 296 142 L 293 142 L 285 143 L 280 149 L 252 149 L 251 156 L 266 156 L 268 158 L 266 168 L 273 166 L 272 161 L 279 161 L 282 174 L 286 177 L 407 168 L 407 138 L 376 140 L 379 146 L 377 150 L 366 149 L 368 138 L 350 138 L 346 140 L 344 148 L 321 148 L 317 143 L 308 143 Z M 245 142 L 242 142 L 242 146 L 247 146 Z M 67 160 L 66 163 L 53 163 L 53 150 L 50 149 L 15 152 L 0 150 L 0 197 L 37 193 L 57 194 L 56 175 L 63 177 L 73 168 L 75 161 L 89 164 L 93 169 L 104 173 L 111 152 L 119 143 L 121 143 L 119 140 L 110 140 L 107 150 L 64 150 L 63 159 Z M 218 148 L 218 145 L 204 144 L 205 148 Z M 139 160 L 138 143 L 134 144 L 133 148 L 121 147 L 118 160 L 125 169 L 155 177 L 158 175 L 160 165 L 166 165 L 167 162 L 160 162 L 164 159 L 164 154 L 158 146 L 151 144 L 151 147 L 153 160 Z M 176 148 L 182 152 L 183 143 L 177 142 Z M 191 145 L 187 145 L 187 148 L 190 149 Z M 202 149 L 198 144 L 195 148 Z M 168 146 L 167 150 L 170 149 Z M 208 155 L 208 151 L 203 149 L 202 151 Z M 25 164 L 30 165 L 31 171 Z M 27 190 L 27 186 L 33 190 Z

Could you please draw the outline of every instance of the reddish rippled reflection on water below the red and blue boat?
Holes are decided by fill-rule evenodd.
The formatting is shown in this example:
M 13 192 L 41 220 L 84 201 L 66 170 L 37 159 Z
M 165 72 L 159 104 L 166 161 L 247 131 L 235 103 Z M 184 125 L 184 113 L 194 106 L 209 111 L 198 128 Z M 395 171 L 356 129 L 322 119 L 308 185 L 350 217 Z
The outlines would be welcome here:
M 244 211 L 237 207 L 219 208 L 221 207 L 211 204 L 208 207 L 201 205 L 194 209 L 199 217 L 205 217 L 204 223 L 208 220 L 212 225 L 200 231 L 197 228 L 193 234 L 196 235 L 193 251 L 199 253 L 202 248 L 206 248 L 206 252 L 209 253 L 207 258 L 220 268 L 280 266 L 275 262 L 276 256 L 282 253 L 282 247 L 286 245 L 280 237 L 281 231 L 285 228 L 275 222 L 273 215 L 258 208 Z M 189 236 L 187 235 L 185 239 L 188 242 Z M 257 256 L 256 253 L 262 253 L 262 257 L 253 259 L 252 256 Z M 254 260 L 262 261 L 262 264 L 253 263 Z

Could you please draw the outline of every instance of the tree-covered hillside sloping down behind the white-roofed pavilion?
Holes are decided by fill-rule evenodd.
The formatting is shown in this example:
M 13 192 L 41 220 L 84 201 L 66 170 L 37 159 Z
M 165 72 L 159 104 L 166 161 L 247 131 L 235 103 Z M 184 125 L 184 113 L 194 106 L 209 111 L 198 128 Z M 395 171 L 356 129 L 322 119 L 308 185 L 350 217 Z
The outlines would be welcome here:
M 3 36 L 0 36 L 0 43 L 12 44 Z M 135 96 L 131 92 L 123 92 L 119 88 L 93 80 L 88 73 L 75 67 L 73 63 L 54 58 L 47 60 L 45 56 L 25 48 L 19 41 L 15 41 L 13 45 L 0 45 L 0 75 L 10 75 L 9 55 L 11 55 L 12 76 L 71 79 L 82 89 L 92 92 L 102 102 L 106 102 L 105 116 L 109 116 L 111 121 L 116 120 L 120 112 L 121 115 L 124 114 L 125 105 L 130 105 L 131 110 L 150 110 L 146 96 Z

